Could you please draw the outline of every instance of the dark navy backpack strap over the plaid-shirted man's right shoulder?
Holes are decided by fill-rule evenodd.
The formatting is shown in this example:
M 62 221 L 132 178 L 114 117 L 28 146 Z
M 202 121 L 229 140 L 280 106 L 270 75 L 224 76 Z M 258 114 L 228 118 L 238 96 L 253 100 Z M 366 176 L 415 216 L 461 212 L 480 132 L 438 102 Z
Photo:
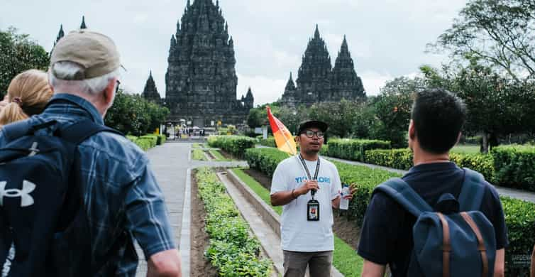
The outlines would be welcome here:
M 57 135 L 66 141 L 70 141 L 71 143 L 78 145 L 79 143 L 82 143 L 82 141 L 88 139 L 89 136 L 93 136 L 101 131 L 107 131 L 124 136 L 120 131 L 111 129 L 108 126 L 96 124 L 90 119 L 78 121 L 75 124 L 71 124 L 70 126 L 60 129 L 58 130 Z

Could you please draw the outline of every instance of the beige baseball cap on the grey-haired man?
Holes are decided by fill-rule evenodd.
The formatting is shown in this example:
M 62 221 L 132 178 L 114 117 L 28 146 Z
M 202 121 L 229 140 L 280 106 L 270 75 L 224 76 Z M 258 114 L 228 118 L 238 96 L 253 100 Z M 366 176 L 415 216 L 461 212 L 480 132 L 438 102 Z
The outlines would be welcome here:
M 71 31 L 55 45 L 50 56 L 50 66 L 57 62 L 70 61 L 85 68 L 74 80 L 86 80 L 106 75 L 121 67 L 116 45 L 111 38 L 101 33 L 79 29 Z M 54 70 L 52 73 L 55 75 Z

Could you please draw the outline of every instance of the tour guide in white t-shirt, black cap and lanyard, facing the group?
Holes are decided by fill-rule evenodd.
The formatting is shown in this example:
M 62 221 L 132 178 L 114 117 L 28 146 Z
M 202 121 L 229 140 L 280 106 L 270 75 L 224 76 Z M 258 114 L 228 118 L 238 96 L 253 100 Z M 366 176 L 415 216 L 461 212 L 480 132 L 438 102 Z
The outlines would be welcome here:
M 318 156 L 328 127 L 317 120 L 300 124 L 300 153 L 280 162 L 273 174 L 271 204 L 284 206 L 280 231 L 285 277 L 304 276 L 307 265 L 311 277 L 331 276 L 331 207 L 340 205 L 341 183 L 336 166 Z

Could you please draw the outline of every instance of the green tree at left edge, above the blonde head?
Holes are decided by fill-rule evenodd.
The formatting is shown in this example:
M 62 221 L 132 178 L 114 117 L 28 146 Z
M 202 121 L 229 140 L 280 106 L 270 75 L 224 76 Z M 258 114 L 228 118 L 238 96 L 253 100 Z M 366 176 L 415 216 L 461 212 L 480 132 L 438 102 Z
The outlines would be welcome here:
M 18 73 L 29 69 L 47 70 L 48 53 L 29 35 L 17 33 L 16 28 L 0 30 L 0 97 Z

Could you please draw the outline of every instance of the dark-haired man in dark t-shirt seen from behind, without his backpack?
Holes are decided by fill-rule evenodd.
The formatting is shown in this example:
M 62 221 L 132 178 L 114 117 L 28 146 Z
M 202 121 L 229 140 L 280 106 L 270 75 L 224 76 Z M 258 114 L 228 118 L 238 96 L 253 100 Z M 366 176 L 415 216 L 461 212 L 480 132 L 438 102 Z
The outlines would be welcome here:
M 460 137 L 465 116 L 465 105 L 451 92 L 433 89 L 416 94 L 409 124 L 414 167 L 402 179 L 431 207 L 444 193 L 460 194 L 465 171 L 449 161 L 449 151 Z M 479 210 L 495 228 L 495 276 L 503 276 L 507 227 L 500 197 L 489 183 Z M 385 193 L 373 195 L 358 245 L 358 254 L 365 259 L 362 276 L 383 276 L 387 264 L 392 276 L 407 276 L 416 220 Z

